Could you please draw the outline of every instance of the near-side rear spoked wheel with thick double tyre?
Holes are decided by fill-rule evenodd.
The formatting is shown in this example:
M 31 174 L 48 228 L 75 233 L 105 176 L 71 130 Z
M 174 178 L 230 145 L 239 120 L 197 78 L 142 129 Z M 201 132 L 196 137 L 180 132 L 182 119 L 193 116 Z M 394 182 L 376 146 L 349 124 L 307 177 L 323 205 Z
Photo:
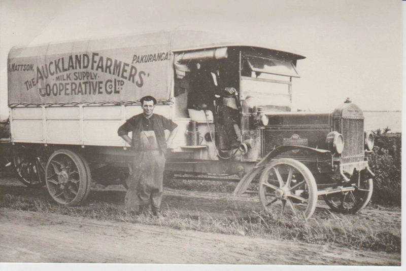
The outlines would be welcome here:
M 90 191 L 90 169 L 84 158 L 71 150 L 52 153 L 46 167 L 46 183 L 51 197 L 63 205 L 78 205 Z

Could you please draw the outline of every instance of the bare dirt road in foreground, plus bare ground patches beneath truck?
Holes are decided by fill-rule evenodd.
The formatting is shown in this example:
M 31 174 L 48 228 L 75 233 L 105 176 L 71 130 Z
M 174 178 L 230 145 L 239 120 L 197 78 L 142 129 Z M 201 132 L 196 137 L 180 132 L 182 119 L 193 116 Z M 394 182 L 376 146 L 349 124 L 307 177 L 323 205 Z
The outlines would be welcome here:
M 10 191 L 18 195 L 25 191 L 32 197 L 46 195 L 43 190 L 28 192 L 14 180 L 7 183 L 4 185 L 0 180 L 2 193 Z M 104 192 L 103 189 L 96 189 L 91 197 L 93 200 L 106 199 Z M 115 193 L 119 193 L 120 197 Z M 108 194 L 111 200 L 116 199 L 117 204 L 121 204 L 123 191 L 110 190 Z M 202 208 L 195 211 L 210 211 L 210 205 L 206 203 L 221 205 L 223 211 L 241 211 L 258 204 L 251 197 L 232 200 L 231 196 L 220 197 L 215 193 L 173 190 L 166 192 L 164 200 L 185 212 L 193 211 L 194 205 Z M 214 216 L 216 214 L 213 212 Z M 368 219 L 368 216 L 366 213 L 361 219 Z M 400 254 L 355 251 L 330 245 L 279 242 L 5 208 L 0 209 L 0 227 L 0 262 L 400 264 Z

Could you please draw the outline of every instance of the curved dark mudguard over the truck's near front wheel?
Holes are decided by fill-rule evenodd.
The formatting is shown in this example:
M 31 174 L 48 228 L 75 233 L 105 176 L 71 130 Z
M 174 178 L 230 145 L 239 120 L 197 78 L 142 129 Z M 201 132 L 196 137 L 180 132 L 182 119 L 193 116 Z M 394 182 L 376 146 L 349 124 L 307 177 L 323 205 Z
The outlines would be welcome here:
M 310 147 L 304 147 L 304 146 L 294 146 L 294 145 L 283 145 L 279 146 L 272 151 L 269 151 L 264 158 L 259 161 L 253 169 L 251 169 L 247 174 L 244 175 L 244 177 L 241 179 L 241 181 L 238 183 L 238 185 L 235 187 L 233 195 L 241 195 L 244 193 L 252 180 L 255 178 L 255 176 L 262 171 L 262 169 L 265 167 L 265 165 L 270 162 L 273 158 L 279 156 L 279 154 L 284 153 L 289 150 L 300 150 L 300 149 L 307 149 L 314 151 L 316 153 L 328 153 L 330 152 L 329 150 L 325 149 L 315 149 L 315 148 L 310 148 Z

